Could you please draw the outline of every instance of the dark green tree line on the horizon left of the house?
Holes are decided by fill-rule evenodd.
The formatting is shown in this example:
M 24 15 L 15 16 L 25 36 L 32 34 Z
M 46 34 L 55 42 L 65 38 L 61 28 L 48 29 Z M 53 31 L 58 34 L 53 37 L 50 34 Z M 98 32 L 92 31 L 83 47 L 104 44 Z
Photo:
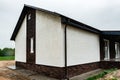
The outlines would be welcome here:
M 0 49 L 0 56 L 15 56 L 15 48 Z

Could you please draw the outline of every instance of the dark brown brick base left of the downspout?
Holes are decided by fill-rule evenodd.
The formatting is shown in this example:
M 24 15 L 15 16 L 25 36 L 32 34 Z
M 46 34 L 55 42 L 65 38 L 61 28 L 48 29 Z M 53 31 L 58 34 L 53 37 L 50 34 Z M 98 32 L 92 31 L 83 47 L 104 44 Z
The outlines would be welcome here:
M 38 72 L 40 74 L 58 78 L 58 79 L 64 79 L 65 78 L 65 70 L 61 67 L 53 67 L 53 66 L 44 66 L 44 65 L 35 65 L 35 64 L 28 64 L 23 62 L 16 62 L 17 67 L 22 67 L 28 70 L 32 70 L 35 72 Z

